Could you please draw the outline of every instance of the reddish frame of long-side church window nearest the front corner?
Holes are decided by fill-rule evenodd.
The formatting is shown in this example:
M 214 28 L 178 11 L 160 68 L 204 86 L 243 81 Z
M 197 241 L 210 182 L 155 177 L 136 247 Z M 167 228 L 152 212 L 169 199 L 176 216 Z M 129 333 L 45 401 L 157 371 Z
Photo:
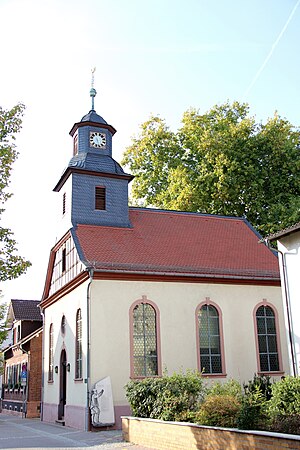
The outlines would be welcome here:
M 147 376 L 137 376 L 134 370 L 134 321 L 133 321 L 133 311 L 137 305 L 149 304 L 155 311 L 156 320 L 156 352 L 157 352 L 157 374 L 147 375 Z M 160 312 L 158 306 L 147 296 L 143 295 L 141 299 L 136 300 L 129 309 L 129 341 L 130 341 L 130 378 L 132 379 L 143 379 L 143 378 L 153 378 L 162 376 L 162 365 L 161 365 L 161 342 L 160 342 Z

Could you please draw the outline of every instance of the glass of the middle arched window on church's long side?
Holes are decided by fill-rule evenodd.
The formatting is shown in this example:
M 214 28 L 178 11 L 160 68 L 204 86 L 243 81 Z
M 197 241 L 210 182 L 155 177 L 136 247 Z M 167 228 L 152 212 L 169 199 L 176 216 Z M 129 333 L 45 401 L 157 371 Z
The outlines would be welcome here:
M 203 373 L 222 373 L 219 313 L 212 305 L 198 311 L 200 369 Z

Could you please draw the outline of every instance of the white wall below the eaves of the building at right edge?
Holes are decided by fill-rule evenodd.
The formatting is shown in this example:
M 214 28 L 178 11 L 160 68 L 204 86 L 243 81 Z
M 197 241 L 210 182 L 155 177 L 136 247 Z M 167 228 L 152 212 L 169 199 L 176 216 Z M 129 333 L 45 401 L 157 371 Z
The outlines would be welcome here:
M 285 271 L 282 257 L 279 256 L 283 298 L 289 302 L 296 373 L 300 375 L 300 231 L 294 232 L 278 241 L 278 250 L 284 254 Z M 286 283 L 285 283 L 286 280 Z M 285 293 L 285 285 L 287 292 Z M 287 320 L 287 317 L 286 317 Z M 291 361 L 291 358 L 290 358 Z M 291 361 L 292 366 L 292 361 Z

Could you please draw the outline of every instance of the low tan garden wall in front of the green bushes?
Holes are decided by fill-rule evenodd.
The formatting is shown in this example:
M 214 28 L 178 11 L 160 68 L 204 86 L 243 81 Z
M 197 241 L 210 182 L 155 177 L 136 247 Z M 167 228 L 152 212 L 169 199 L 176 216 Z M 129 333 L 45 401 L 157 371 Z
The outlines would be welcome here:
M 123 438 L 157 450 L 300 450 L 300 436 L 122 417 Z

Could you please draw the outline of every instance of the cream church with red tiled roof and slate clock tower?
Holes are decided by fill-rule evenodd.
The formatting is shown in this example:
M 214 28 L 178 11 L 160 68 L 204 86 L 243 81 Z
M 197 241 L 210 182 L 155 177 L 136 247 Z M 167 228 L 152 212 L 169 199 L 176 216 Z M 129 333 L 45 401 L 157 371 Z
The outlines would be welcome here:
M 243 218 L 128 207 L 115 131 L 92 109 L 70 132 L 41 301 L 42 419 L 86 430 L 119 428 L 124 385 L 165 369 L 288 373 L 277 257 Z

